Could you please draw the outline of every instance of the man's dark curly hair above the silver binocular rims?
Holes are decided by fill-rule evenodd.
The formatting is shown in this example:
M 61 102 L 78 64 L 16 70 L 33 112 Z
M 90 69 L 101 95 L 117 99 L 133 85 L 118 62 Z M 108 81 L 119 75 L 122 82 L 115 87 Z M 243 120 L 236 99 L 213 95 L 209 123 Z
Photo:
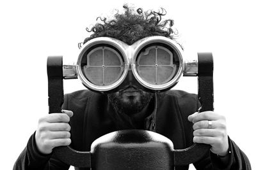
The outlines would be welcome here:
M 124 5 L 125 13 L 116 13 L 113 20 L 107 21 L 107 18 L 97 17 L 97 20 L 101 20 L 102 24 L 95 24 L 92 29 L 86 27 L 86 31 L 93 32 L 93 34 L 85 38 L 78 46 L 90 41 L 90 39 L 97 37 L 110 37 L 116 38 L 128 45 L 138 41 L 139 39 L 148 36 L 165 36 L 173 39 L 173 36 L 177 34 L 172 29 L 173 20 L 163 20 L 162 16 L 166 15 L 166 10 L 161 8 L 159 11 L 143 11 L 142 8 L 138 8 L 136 11 L 134 8 Z

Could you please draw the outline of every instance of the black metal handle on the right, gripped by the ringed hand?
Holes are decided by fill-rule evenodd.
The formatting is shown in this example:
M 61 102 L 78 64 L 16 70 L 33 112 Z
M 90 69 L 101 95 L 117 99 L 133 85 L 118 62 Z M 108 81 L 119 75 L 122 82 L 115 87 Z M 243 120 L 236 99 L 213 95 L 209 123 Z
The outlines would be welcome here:
M 198 53 L 198 99 L 200 112 L 213 111 L 213 57 L 212 53 Z M 209 152 L 210 145 L 195 143 L 183 150 L 174 150 L 174 165 L 188 165 L 202 159 Z

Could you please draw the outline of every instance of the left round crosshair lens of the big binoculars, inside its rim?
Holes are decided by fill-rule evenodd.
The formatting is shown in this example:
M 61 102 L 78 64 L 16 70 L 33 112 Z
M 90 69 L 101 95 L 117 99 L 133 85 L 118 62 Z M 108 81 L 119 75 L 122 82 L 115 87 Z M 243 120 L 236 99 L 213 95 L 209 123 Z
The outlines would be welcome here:
M 115 83 L 124 72 L 124 60 L 120 53 L 108 46 L 97 46 L 90 50 L 81 66 L 86 79 L 97 86 Z

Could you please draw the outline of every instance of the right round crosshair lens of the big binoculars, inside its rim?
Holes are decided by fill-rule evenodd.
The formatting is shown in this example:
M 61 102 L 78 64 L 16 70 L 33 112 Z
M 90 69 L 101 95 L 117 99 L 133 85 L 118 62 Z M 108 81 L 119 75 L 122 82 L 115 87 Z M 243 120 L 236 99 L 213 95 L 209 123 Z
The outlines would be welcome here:
M 138 53 L 136 70 L 147 83 L 163 85 L 172 80 L 179 64 L 179 58 L 172 49 L 162 45 L 149 45 Z

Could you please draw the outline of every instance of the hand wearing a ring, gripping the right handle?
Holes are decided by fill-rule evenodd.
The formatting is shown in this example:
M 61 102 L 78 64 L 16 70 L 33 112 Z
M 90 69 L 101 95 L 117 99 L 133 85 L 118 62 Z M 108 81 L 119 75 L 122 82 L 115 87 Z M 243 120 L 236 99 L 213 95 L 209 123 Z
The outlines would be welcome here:
M 211 145 L 211 152 L 217 155 L 227 154 L 228 136 L 225 117 L 214 111 L 204 111 L 189 115 L 188 120 L 194 124 L 194 143 Z

